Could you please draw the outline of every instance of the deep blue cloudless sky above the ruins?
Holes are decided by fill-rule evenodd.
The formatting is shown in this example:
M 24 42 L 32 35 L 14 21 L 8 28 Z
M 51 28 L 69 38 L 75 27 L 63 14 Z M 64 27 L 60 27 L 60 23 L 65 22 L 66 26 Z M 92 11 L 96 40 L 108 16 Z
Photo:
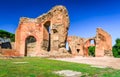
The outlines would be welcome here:
M 20 17 L 36 18 L 55 5 L 64 5 L 70 16 L 69 35 L 93 37 L 101 27 L 120 38 L 120 0 L 0 0 L 0 29 L 15 33 Z

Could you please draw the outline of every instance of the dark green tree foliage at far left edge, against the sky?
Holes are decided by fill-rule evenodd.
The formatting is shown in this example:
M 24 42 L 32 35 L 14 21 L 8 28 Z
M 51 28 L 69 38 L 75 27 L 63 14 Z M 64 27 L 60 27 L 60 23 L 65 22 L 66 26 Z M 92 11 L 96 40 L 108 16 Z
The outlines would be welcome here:
M 11 39 L 12 42 L 15 41 L 15 34 L 12 34 L 10 32 L 4 31 L 4 30 L 0 30 L 0 37 L 2 37 L 2 38 L 8 37 Z

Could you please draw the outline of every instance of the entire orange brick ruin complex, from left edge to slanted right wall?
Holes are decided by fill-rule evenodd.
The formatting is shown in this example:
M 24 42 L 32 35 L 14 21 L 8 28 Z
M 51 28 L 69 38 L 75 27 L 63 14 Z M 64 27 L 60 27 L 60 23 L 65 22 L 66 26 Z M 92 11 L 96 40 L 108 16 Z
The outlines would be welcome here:
M 0 48 L 0 52 L 8 56 L 63 55 L 63 53 L 89 56 L 88 48 L 95 46 L 96 57 L 112 56 L 112 38 L 103 29 L 97 28 L 95 37 L 91 38 L 68 36 L 68 29 L 68 12 L 61 5 L 53 7 L 37 18 L 21 17 L 15 33 L 14 49 Z M 66 42 L 70 50 L 66 49 Z

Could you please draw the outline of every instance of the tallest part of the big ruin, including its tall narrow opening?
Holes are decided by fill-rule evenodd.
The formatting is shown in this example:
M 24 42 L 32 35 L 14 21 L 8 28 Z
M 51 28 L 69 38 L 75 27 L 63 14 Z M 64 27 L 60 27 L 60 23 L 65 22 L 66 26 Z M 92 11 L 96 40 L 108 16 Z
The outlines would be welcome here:
M 43 26 L 43 48 L 52 52 L 66 51 L 66 39 L 69 28 L 69 16 L 64 6 L 55 6 L 48 13 L 37 18 Z M 46 27 L 49 30 L 46 30 Z M 45 50 L 46 50 L 45 49 Z

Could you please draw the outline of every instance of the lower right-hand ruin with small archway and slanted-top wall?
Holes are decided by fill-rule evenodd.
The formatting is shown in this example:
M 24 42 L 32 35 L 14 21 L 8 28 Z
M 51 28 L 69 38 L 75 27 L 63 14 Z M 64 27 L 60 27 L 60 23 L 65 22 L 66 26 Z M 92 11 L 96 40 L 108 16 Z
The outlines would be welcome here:
M 101 28 L 97 28 L 96 36 L 92 38 L 81 38 L 69 36 L 67 39 L 70 52 L 73 55 L 89 56 L 88 48 L 95 46 L 95 56 L 112 56 L 112 38 Z M 93 41 L 94 43 L 91 43 Z

